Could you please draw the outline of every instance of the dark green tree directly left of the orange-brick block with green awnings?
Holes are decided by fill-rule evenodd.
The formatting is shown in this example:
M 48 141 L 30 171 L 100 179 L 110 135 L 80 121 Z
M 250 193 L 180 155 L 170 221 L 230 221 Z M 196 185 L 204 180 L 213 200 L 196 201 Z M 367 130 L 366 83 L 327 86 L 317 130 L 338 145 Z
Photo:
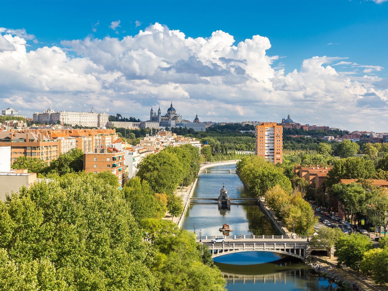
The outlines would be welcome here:
M 76 173 L 83 170 L 83 151 L 71 149 L 60 154 L 57 159 L 50 162 L 49 172 L 58 173 L 60 176 L 67 173 Z

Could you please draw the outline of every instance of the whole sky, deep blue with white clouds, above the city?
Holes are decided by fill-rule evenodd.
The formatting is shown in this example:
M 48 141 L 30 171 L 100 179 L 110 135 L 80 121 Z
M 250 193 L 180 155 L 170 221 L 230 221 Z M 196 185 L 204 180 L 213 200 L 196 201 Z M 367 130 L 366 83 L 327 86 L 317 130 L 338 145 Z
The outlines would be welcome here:
M 151 106 L 172 100 L 189 120 L 280 122 L 291 113 L 300 123 L 384 132 L 388 3 L 377 2 L 223 2 L 234 20 L 210 21 L 199 12 L 216 2 L 152 2 L 149 13 L 140 2 L 114 2 L 106 14 L 110 2 L 93 2 L 95 13 L 74 20 L 66 12 L 77 16 L 90 2 L 23 2 L 13 17 L 5 12 L 14 4 L 3 1 L 0 105 L 26 116 L 52 104 L 147 120 Z M 189 7 L 189 19 L 178 17 Z M 168 9 L 175 14 L 161 16 Z M 237 15 L 244 9 L 256 18 Z M 66 19 L 69 28 L 59 28 Z

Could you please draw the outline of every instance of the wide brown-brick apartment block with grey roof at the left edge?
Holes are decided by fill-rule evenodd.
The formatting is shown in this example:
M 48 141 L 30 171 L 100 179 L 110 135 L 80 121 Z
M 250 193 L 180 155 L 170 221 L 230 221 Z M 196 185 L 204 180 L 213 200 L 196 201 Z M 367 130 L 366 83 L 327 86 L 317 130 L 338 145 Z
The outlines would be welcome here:
M 60 141 L 44 133 L 0 132 L 0 146 L 10 146 L 11 162 L 19 156 L 35 157 L 50 163 L 59 156 Z

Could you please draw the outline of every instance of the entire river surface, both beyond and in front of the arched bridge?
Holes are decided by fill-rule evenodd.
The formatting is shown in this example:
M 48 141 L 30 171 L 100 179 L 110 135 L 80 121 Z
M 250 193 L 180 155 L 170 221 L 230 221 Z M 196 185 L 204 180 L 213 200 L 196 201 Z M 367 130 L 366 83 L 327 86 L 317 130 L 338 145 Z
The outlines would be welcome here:
M 249 192 L 236 173 L 236 165 L 208 168 L 200 173 L 193 197 L 218 197 L 222 183 L 230 198 L 249 198 Z M 202 231 L 202 236 L 222 235 L 218 230 L 223 223 L 230 225 L 230 235 L 277 234 L 264 214 L 255 205 L 231 205 L 230 210 L 218 210 L 213 201 L 190 205 L 186 212 L 183 228 Z M 232 253 L 214 258 L 227 281 L 228 290 L 336 290 L 338 286 L 326 278 L 314 274 L 296 258 L 271 252 L 249 251 Z

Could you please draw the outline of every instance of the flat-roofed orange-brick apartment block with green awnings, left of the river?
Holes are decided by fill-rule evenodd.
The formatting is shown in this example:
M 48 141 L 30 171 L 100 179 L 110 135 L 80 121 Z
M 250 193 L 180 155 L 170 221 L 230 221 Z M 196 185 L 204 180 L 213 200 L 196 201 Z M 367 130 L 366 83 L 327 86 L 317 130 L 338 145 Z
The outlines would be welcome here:
M 83 170 L 94 174 L 110 171 L 117 177 L 121 187 L 125 184 L 127 178 L 127 166 L 124 161 L 125 152 L 115 147 L 98 148 L 93 152 L 83 154 Z

